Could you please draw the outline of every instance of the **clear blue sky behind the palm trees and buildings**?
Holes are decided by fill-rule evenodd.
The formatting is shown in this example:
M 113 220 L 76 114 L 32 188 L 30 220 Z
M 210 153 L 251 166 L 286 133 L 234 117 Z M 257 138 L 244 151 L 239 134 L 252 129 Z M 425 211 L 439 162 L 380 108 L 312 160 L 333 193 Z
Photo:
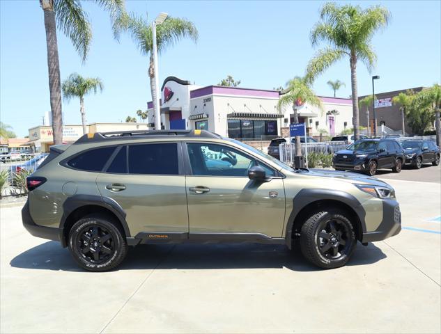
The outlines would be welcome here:
M 357 3 L 357 1 L 351 1 Z M 363 7 L 377 4 L 363 1 Z M 127 1 L 127 10 L 155 17 L 167 12 L 186 17 L 199 29 L 195 45 L 184 40 L 160 55 L 160 84 L 174 75 L 201 86 L 217 84 L 227 74 L 241 87 L 272 89 L 304 69 L 316 52 L 309 31 L 318 21 L 322 1 Z M 373 38 L 380 75 L 376 91 L 431 86 L 441 77 L 440 1 L 382 1 L 392 22 Z M 84 3 L 93 24 L 93 42 L 86 63 L 59 32 L 61 78 L 72 72 L 100 77 L 102 94 L 86 97 L 88 122 L 119 122 L 150 101 L 148 58 L 123 35 L 111 33 L 109 16 Z M 0 1 L 1 121 L 18 136 L 40 125 L 50 110 L 43 13 L 35 1 Z M 350 95 L 349 61 L 327 70 L 314 84 L 318 95 L 332 95 L 328 80 L 346 83 L 338 96 Z M 370 74 L 358 65 L 359 95 L 371 92 Z M 63 102 L 65 124 L 79 124 L 79 102 Z

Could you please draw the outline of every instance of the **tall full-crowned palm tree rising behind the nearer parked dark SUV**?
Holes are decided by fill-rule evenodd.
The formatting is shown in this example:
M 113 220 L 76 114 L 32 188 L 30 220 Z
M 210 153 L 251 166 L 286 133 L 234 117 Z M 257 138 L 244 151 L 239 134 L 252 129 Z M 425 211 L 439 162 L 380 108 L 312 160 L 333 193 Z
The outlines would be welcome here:
M 307 66 L 307 80 L 314 81 L 316 77 L 327 70 L 336 61 L 349 58 L 350 81 L 353 99 L 354 136 L 359 138 L 359 115 L 357 93 L 357 61 L 362 61 L 370 71 L 376 63 L 376 54 L 371 45 L 371 39 L 376 31 L 387 26 L 390 13 L 382 6 L 371 6 L 362 9 L 359 6 L 336 3 L 326 3 L 323 6 L 320 19 L 311 31 L 311 44 L 318 45 L 324 41 L 329 44 L 325 49 L 311 59 Z

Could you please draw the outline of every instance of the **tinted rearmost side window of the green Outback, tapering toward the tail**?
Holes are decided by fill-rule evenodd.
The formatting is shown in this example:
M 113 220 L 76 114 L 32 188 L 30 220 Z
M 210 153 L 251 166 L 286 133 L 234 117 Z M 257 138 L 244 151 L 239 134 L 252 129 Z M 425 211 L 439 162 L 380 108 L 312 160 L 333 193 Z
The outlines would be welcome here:
M 100 172 L 114 150 L 115 146 L 87 150 L 70 159 L 68 166 L 88 172 Z

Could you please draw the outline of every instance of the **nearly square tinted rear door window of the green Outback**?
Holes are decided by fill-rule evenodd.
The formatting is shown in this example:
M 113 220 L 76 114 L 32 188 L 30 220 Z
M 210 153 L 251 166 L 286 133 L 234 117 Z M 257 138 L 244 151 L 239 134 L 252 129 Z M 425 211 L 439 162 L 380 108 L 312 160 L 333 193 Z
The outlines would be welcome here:
M 178 175 L 178 144 L 129 145 L 129 173 Z

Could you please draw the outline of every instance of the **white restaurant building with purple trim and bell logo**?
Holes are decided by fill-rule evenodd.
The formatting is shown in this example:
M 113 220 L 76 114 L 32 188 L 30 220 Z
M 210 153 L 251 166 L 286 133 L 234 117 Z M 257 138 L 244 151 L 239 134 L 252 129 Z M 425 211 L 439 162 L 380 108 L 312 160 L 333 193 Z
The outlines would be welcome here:
M 286 136 L 293 122 L 293 106 L 279 107 L 277 90 L 225 86 L 196 86 L 168 77 L 161 88 L 163 129 L 207 129 L 230 138 L 271 139 Z M 300 122 L 309 134 L 339 134 L 352 124 L 352 101 L 320 97 L 323 109 L 297 103 Z M 154 127 L 153 102 L 148 102 L 148 122 Z

